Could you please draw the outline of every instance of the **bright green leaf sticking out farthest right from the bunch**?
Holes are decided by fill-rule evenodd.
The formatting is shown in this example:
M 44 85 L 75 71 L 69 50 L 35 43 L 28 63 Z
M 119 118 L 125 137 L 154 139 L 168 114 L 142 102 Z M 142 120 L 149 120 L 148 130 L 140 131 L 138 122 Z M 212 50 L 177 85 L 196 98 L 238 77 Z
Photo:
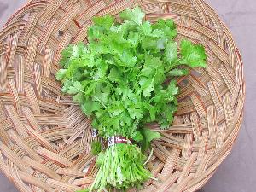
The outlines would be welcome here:
M 200 44 L 192 44 L 188 40 L 183 40 L 181 42 L 181 55 L 181 64 L 189 67 L 207 67 L 207 55 L 204 47 Z

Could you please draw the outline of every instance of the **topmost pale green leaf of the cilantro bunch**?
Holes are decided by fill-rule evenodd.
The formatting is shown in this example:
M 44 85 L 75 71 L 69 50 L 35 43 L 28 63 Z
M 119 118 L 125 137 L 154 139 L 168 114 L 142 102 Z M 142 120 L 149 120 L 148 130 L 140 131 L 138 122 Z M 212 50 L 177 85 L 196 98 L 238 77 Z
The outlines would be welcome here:
M 144 13 L 142 9 L 138 6 L 135 9 L 125 9 L 122 13 L 119 14 L 122 20 L 130 20 L 136 23 L 137 25 L 141 25 L 144 18 Z

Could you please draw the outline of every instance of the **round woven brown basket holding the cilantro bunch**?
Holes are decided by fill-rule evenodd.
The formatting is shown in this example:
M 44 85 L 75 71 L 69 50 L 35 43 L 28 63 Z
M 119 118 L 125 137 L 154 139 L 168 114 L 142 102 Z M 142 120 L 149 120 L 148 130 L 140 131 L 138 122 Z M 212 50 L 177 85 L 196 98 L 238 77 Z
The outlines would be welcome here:
M 146 20 L 175 20 L 177 41 L 203 44 L 208 65 L 177 79 L 181 91 L 170 129 L 151 126 L 162 136 L 148 162 L 158 180 L 148 180 L 140 191 L 200 189 L 230 153 L 243 114 L 243 67 L 229 29 L 207 3 L 32 0 L 0 33 L 0 168 L 20 191 L 76 191 L 93 182 L 90 119 L 61 93 L 55 73 L 68 44 L 86 43 L 91 17 L 136 5 Z

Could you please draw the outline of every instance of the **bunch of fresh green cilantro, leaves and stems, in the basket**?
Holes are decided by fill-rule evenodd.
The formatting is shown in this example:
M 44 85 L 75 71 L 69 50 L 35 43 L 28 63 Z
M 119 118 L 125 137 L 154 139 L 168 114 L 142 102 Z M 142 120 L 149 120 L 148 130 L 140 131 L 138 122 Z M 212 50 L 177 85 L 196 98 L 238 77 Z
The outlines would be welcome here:
M 144 125 L 158 122 L 168 128 L 177 110 L 174 78 L 188 74 L 188 67 L 206 67 L 202 45 L 184 39 L 178 48 L 173 20 L 152 24 L 143 18 L 139 7 L 120 13 L 121 22 L 95 17 L 89 43 L 70 44 L 62 53 L 63 68 L 56 74 L 62 91 L 73 95 L 100 136 L 134 140 L 98 154 L 100 168 L 90 190 L 127 189 L 152 177 L 143 151 L 160 134 Z

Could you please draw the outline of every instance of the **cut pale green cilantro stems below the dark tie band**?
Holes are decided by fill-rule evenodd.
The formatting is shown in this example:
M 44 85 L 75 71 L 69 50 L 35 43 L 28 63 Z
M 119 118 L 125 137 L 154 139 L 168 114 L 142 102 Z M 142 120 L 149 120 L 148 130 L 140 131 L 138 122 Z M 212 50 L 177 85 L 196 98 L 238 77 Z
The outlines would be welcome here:
M 145 156 L 136 145 L 115 144 L 106 149 L 90 191 L 105 187 L 128 189 L 145 182 L 151 173 L 145 169 Z

